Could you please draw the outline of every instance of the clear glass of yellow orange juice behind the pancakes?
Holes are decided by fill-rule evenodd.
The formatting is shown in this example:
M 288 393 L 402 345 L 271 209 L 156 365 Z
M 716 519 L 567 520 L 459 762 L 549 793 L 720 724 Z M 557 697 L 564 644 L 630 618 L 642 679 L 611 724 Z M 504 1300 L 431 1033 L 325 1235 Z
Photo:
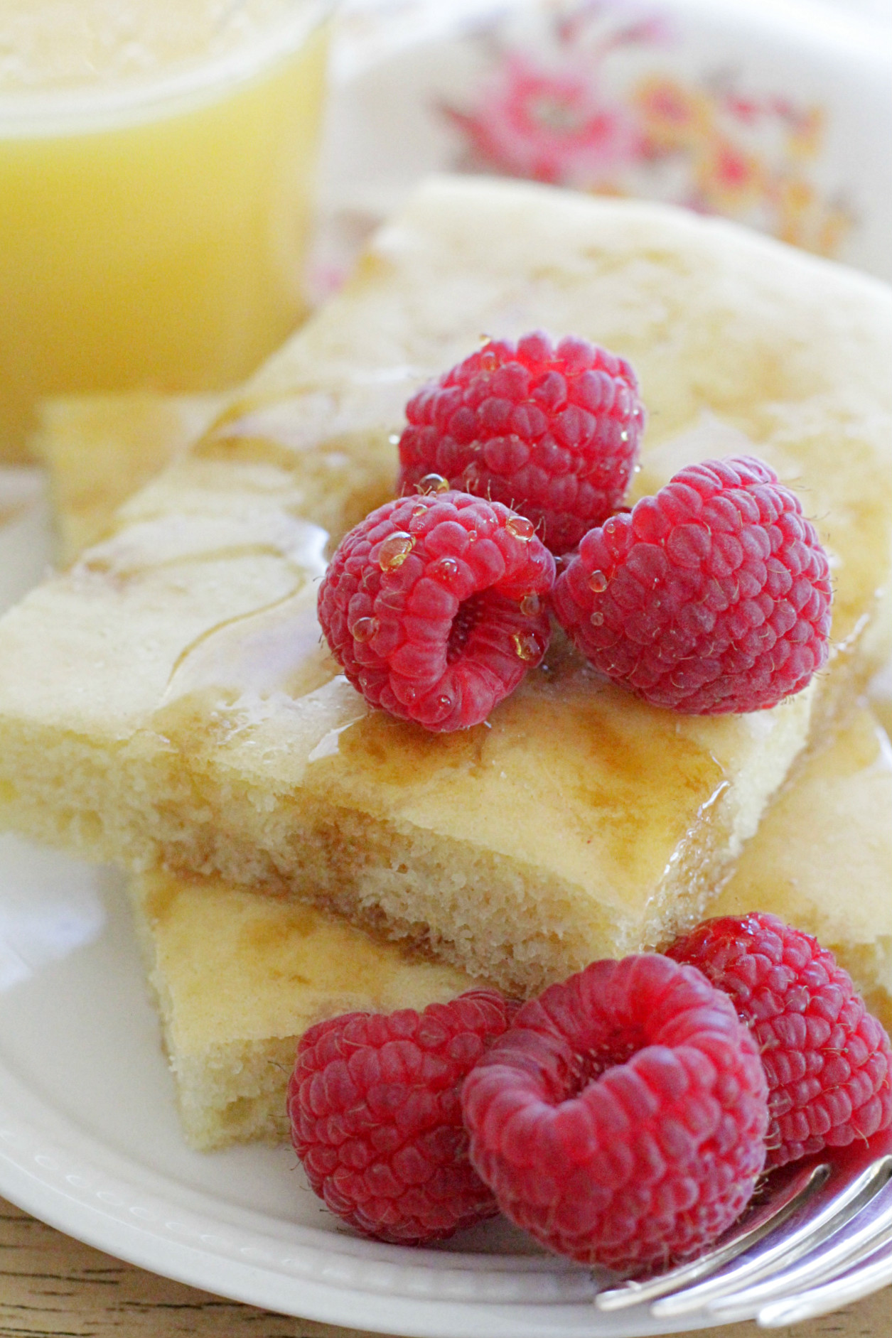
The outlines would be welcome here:
M 218 389 L 304 313 L 331 0 L 0 0 L 0 459 L 46 395 Z

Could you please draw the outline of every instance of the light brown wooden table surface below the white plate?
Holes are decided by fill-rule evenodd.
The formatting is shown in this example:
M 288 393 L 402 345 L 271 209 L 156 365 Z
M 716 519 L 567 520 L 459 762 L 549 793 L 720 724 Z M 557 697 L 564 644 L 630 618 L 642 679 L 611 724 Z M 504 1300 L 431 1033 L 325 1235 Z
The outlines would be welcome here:
M 700 1330 L 762 1338 L 755 1325 Z M 794 1329 L 794 1338 L 892 1338 L 892 1288 Z M 0 1199 L 0 1338 L 372 1338 L 355 1329 L 273 1315 L 167 1282 L 100 1254 Z

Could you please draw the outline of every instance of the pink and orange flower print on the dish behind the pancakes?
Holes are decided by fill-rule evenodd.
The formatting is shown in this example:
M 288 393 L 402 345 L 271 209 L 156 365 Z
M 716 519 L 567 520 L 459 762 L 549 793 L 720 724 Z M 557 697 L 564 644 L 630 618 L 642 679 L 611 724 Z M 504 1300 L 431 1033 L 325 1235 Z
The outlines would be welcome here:
M 441 107 L 455 166 L 667 199 L 838 252 L 854 219 L 820 185 L 820 106 L 754 96 L 727 70 L 679 78 L 660 60 L 678 35 L 617 0 L 542 8 L 536 43 L 498 27 L 485 37 L 485 75 L 463 104 Z

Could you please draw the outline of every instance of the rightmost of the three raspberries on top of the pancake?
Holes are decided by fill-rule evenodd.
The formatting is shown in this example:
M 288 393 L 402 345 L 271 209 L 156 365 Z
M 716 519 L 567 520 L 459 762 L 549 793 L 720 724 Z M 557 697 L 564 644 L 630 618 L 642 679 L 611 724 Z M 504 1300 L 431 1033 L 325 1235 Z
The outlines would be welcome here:
M 591 530 L 553 606 L 583 654 L 655 706 L 761 710 L 826 661 L 828 559 L 761 460 L 707 460 Z

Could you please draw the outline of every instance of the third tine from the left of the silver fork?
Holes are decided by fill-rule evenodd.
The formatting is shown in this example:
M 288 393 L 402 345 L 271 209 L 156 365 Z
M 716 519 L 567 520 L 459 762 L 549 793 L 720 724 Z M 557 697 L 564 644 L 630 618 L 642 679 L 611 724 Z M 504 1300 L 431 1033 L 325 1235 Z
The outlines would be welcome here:
M 883 1192 L 889 1175 L 892 1164 L 887 1168 L 884 1184 L 877 1188 L 873 1198 L 798 1264 L 784 1268 L 731 1297 L 717 1299 L 710 1305 L 710 1311 L 717 1318 L 727 1321 L 746 1318 L 774 1298 L 798 1293 L 816 1282 L 830 1282 L 875 1255 L 883 1246 L 892 1243 L 892 1195 Z

